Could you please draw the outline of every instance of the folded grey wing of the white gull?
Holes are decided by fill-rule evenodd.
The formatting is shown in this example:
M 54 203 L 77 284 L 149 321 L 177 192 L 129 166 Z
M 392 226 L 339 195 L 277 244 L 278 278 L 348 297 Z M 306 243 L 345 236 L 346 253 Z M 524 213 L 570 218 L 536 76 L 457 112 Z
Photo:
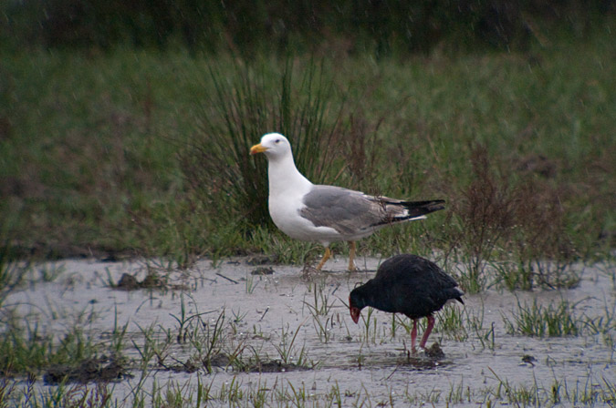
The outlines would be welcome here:
M 304 197 L 300 215 L 317 227 L 330 227 L 350 235 L 387 223 L 405 209 L 398 200 L 372 197 L 360 191 L 335 186 L 314 186 Z

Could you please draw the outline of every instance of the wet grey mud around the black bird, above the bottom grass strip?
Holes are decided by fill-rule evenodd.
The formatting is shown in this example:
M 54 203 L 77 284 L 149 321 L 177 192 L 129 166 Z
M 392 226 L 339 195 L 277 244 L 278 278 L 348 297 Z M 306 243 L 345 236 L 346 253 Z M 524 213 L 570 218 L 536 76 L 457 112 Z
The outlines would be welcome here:
M 464 306 L 445 307 L 457 308 L 461 328 L 445 331 L 441 311 L 433 345 L 412 352 L 406 318 L 374 311 L 362 313 L 359 324 L 350 319 L 350 291 L 371 279 L 380 261 L 364 259 L 364 271 L 348 272 L 347 261 L 337 259 L 329 271 L 316 272 L 269 260 L 204 260 L 162 278 L 159 271 L 153 279 L 151 262 L 64 260 L 45 265 L 62 266 L 57 280 L 16 291 L 5 304 L 41 331 L 61 333 L 81 324 L 94 341 L 110 342 L 114 327 L 126 326 L 124 360 L 101 358 L 44 374 L 48 385 L 117 382 L 117 398 L 131 395 L 137 384 L 137 346 L 142 349 L 146 337 L 159 354 L 148 362 L 151 380 L 139 382 L 145 389 L 148 381 L 190 389 L 207 376 L 213 393 L 231 381 L 246 390 L 256 382 L 270 388 L 284 383 L 306 386 L 315 399 L 334 387 L 355 402 L 369 394 L 376 405 L 431 398 L 444 403 L 446 395 L 468 390 L 465 401 L 476 406 L 485 402 L 485 390 L 504 382 L 546 390 L 555 383 L 570 388 L 616 382 L 613 323 L 603 332 L 538 338 L 507 332 L 504 322 L 513 319 L 517 304 L 534 300 L 567 299 L 578 313 L 608 318 L 616 303 L 611 266 L 576 266 L 582 279 L 572 290 L 466 295 Z M 80 320 L 84 311 L 94 316 L 87 323 Z M 204 355 L 199 348 L 214 332 L 219 340 Z

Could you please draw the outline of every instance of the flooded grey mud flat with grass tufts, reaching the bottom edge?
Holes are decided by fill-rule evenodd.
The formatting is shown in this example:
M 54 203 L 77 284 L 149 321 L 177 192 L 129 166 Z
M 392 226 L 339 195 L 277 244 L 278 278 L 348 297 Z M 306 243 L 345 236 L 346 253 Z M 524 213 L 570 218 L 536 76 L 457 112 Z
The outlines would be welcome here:
M 340 258 L 322 273 L 247 261 L 183 271 L 156 261 L 33 267 L 32 276 L 46 270 L 54 279 L 13 291 L 3 320 L 57 342 L 78 331 L 97 352 L 29 379 L 6 376 L 11 398 L 44 402 L 59 389 L 104 394 L 112 406 L 616 403 L 613 265 L 574 265 L 581 281 L 567 291 L 466 295 L 465 306 L 439 314 L 429 344 L 443 354 L 429 355 L 409 350 L 402 316 L 366 310 L 351 321 L 349 292 L 380 260 L 364 259 L 368 271 L 353 273 Z M 574 333 L 520 329 L 524 311 L 563 304 Z

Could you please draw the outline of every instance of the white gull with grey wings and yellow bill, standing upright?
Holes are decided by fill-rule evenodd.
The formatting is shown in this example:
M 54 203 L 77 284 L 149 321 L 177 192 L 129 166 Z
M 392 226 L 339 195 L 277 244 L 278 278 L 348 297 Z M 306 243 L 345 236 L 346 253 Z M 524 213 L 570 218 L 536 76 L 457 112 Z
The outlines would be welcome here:
M 279 133 L 264 135 L 250 148 L 251 155 L 257 153 L 264 153 L 268 163 L 269 215 L 289 237 L 318 241 L 325 247 L 317 270 L 331 257 L 331 242 L 349 242 L 349 270 L 356 270 L 356 240 L 387 225 L 425 219 L 426 214 L 444 209 L 443 199 L 403 201 L 313 184 L 298 171 L 291 144 Z

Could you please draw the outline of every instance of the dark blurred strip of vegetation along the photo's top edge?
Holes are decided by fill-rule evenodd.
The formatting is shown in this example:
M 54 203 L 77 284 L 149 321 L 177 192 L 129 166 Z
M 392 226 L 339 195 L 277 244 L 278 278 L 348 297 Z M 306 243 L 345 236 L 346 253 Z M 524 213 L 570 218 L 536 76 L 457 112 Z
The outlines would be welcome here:
M 382 57 L 447 50 L 525 50 L 547 44 L 552 32 L 580 37 L 613 12 L 611 2 L 506 3 L 444 0 L 358 3 L 246 1 L 232 4 L 156 3 L 124 5 L 86 0 L 8 2 L 0 12 L 6 47 L 110 49 L 118 45 L 193 52 L 232 48 L 245 56 L 264 51 L 304 51 L 338 46 Z M 207 24 L 204 24 L 204 16 Z M 570 24 L 569 22 L 575 22 Z

